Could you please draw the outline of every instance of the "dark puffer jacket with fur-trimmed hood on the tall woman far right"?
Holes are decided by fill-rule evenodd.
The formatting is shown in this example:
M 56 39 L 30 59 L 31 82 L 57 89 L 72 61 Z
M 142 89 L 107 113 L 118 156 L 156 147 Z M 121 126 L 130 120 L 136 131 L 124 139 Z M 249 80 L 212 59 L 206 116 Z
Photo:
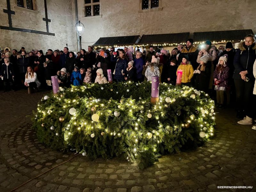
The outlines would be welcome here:
M 248 74 L 246 76 L 250 79 L 249 81 L 255 81 L 253 76 L 253 63 L 256 59 L 256 44 L 253 43 L 250 46 L 246 46 L 244 42 L 241 42 L 236 49 L 236 54 L 234 57 L 234 67 L 235 72 L 233 79 L 241 79 L 239 74 L 241 71 L 247 70 Z

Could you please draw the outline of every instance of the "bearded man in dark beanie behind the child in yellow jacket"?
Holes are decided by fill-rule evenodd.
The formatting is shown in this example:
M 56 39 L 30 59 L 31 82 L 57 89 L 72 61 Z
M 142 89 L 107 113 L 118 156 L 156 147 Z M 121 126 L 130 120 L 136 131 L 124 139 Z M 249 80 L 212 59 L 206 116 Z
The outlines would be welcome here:
M 178 64 L 180 64 L 182 57 L 184 55 L 188 55 L 188 60 L 190 61 L 193 68 L 196 69 L 198 67 L 198 63 L 196 62 L 196 59 L 197 59 L 197 55 L 198 55 L 199 51 L 195 48 L 195 46 L 193 46 L 193 44 L 194 44 L 193 39 L 187 40 L 186 46 L 183 49 L 181 49 L 181 51 L 180 51 Z

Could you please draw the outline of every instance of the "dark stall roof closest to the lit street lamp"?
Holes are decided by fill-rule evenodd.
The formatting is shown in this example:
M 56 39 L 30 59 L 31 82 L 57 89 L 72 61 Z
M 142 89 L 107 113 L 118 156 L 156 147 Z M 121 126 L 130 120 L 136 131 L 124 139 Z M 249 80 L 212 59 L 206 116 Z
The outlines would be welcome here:
M 100 37 L 93 46 L 100 45 L 133 45 L 137 44 L 140 40 L 139 35 L 133 36 L 119 36 L 119 37 Z

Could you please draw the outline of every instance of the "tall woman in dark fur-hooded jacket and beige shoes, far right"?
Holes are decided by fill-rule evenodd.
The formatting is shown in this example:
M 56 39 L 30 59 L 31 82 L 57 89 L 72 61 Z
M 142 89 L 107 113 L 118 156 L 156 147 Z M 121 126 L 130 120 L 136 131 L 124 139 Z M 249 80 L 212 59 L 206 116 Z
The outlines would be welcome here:
M 256 59 L 255 37 L 250 34 L 245 36 L 245 41 L 241 41 L 236 49 L 234 57 L 233 79 L 236 86 L 236 110 L 237 118 L 243 118 L 238 124 L 252 124 L 253 86 L 255 77 L 253 76 L 253 63 Z

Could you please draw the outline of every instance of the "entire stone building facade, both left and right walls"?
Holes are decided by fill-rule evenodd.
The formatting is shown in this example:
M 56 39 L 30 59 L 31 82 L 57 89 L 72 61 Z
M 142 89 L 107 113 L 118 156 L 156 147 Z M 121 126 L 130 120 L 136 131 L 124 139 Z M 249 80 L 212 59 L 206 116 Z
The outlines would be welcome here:
M 25 8 L 18 6 L 20 1 Z M 68 44 L 70 50 L 77 51 L 76 0 L 31 1 L 32 10 L 26 8 L 26 0 L 0 1 L 0 47 L 19 50 L 24 46 L 45 52 Z M 145 2 L 158 5 L 142 9 Z M 78 20 L 85 26 L 82 48 L 86 50 L 100 37 L 233 29 L 256 32 L 254 0 L 77 0 L 77 5 Z

